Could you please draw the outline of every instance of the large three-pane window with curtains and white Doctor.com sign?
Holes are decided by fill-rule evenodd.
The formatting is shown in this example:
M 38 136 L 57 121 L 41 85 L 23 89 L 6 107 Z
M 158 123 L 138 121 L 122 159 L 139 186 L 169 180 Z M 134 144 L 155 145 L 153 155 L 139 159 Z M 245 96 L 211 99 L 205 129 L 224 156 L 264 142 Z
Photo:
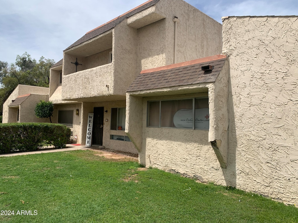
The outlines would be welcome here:
M 148 101 L 147 126 L 209 129 L 208 98 Z

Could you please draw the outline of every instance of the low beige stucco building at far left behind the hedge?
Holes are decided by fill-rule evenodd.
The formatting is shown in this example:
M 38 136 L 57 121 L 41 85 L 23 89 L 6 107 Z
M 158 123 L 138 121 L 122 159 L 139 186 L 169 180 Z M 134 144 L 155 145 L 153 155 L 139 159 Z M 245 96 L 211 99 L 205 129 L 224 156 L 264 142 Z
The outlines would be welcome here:
M 19 84 L 3 104 L 3 123 L 50 122 L 35 117 L 35 105 L 48 101 L 49 88 Z M 33 106 L 32 106 L 33 105 Z

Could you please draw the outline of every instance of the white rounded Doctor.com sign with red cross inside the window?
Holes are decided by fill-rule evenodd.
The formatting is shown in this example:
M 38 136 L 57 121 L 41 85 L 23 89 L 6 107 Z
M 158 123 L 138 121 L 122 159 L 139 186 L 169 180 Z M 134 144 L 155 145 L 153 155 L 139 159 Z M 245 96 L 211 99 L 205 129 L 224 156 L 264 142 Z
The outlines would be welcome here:
M 181 109 L 173 117 L 176 128 L 193 128 L 193 109 Z M 209 129 L 209 109 L 195 109 L 195 128 Z

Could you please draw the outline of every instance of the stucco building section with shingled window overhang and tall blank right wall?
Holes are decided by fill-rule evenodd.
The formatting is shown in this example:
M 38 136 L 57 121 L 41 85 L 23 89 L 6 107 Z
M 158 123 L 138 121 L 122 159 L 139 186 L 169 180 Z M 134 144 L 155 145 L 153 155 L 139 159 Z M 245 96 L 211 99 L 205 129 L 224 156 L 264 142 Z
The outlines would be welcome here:
M 142 70 L 125 130 L 140 162 L 297 203 L 297 27 L 298 16 L 226 17 L 223 54 Z

